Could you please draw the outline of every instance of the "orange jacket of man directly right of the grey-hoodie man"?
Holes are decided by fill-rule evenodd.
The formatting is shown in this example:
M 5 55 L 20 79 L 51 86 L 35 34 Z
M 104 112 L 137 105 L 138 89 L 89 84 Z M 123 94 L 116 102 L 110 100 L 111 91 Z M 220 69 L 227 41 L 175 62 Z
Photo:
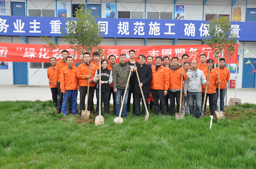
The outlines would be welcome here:
M 209 70 L 204 69 L 203 72 L 204 72 L 204 76 L 207 79 Z M 218 85 L 218 71 L 212 69 L 210 71 L 209 86 L 207 87 L 207 93 L 208 94 L 216 93 L 216 86 L 217 85 Z M 202 85 L 202 88 L 203 88 L 203 92 L 205 92 L 206 85 Z

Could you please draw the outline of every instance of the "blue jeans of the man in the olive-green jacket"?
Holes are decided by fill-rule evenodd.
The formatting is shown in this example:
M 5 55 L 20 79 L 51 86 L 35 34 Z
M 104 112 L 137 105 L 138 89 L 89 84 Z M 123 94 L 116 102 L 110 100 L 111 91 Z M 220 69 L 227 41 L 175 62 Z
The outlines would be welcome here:
M 117 93 L 116 93 L 116 117 L 119 116 L 119 112 L 120 112 L 120 107 L 121 107 L 121 96 L 124 96 L 125 93 L 125 89 L 117 89 Z M 127 89 L 126 93 L 125 93 L 125 102 L 124 102 L 124 106 L 122 108 L 122 116 L 126 117 L 127 116 L 127 101 L 128 101 L 128 93 L 129 93 L 129 89 Z M 124 99 L 122 97 L 122 99 Z

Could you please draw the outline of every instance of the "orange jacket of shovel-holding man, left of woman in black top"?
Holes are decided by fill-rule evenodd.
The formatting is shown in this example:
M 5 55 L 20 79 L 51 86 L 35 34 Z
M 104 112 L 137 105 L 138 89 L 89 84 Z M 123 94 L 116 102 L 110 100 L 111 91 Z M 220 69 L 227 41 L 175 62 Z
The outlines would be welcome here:
M 94 65 L 92 62 L 91 64 L 91 73 L 92 77 L 90 78 L 93 81 L 95 72 L 96 72 L 96 65 Z M 78 66 L 77 68 L 77 78 L 79 79 L 79 87 L 80 86 L 88 86 L 88 79 L 86 79 L 86 76 L 89 75 L 90 72 L 90 65 L 87 66 L 85 63 L 82 63 L 81 65 Z M 91 82 L 90 87 L 94 87 L 95 83 Z

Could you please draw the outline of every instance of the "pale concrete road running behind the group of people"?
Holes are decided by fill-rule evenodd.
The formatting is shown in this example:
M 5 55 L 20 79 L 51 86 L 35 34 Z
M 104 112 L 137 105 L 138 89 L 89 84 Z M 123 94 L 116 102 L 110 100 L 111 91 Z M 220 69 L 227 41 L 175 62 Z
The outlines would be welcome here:
M 0 101 L 15 101 L 15 100 L 51 100 L 51 90 L 47 86 L 19 86 L 19 85 L 0 85 Z M 94 93 L 96 95 L 96 93 Z M 235 97 L 235 89 L 227 90 L 228 101 L 229 98 Z M 256 89 L 255 88 L 240 88 L 237 89 L 236 97 L 241 99 L 242 103 L 256 104 Z M 112 99 L 111 99 L 112 100 Z M 96 104 L 96 96 L 93 99 Z M 79 103 L 79 93 L 78 93 Z M 111 101 L 113 104 L 113 101 Z

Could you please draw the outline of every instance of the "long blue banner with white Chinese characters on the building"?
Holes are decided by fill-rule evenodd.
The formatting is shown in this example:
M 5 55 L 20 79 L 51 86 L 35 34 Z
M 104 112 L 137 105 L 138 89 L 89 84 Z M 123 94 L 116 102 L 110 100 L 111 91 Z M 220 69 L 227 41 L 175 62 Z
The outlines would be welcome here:
M 202 39 L 208 33 L 207 21 L 99 18 L 103 37 Z M 233 33 L 240 41 L 256 41 L 255 22 L 232 22 Z M 60 17 L 0 16 L 2 36 L 61 37 L 65 28 Z

